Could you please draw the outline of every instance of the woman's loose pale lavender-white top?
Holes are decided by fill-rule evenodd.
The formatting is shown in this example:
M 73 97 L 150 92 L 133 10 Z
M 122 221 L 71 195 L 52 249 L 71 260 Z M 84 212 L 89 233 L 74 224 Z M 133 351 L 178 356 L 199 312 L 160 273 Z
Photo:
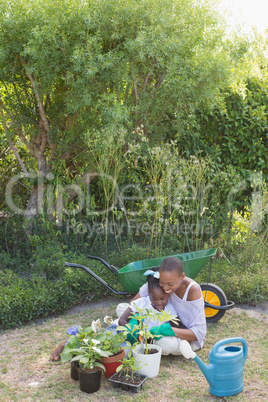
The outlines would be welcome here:
M 169 297 L 169 303 L 174 307 L 176 315 L 179 316 L 181 323 L 188 329 L 191 329 L 197 341 L 194 341 L 198 348 L 202 348 L 205 343 L 205 336 L 207 332 L 206 316 L 204 309 L 203 297 L 197 300 L 187 300 L 187 296 L 191 286 L 198 285 L 195 281 L 192 281 L 181 299 L 175 293 L 172 293 Z M 148 285 L 145 283 L 139 290 L 142 297 L 148 295 Z

